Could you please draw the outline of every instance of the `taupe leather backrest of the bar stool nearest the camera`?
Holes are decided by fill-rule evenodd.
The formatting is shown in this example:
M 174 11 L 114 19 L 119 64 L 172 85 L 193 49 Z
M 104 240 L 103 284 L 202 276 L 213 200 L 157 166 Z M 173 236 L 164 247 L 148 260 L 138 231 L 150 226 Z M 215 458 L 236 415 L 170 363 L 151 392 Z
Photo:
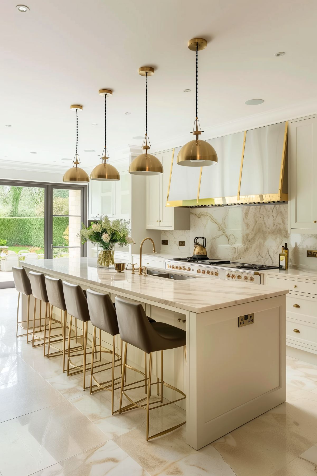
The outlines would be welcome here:
M 122 340 L 144 352 L 153 352 L 156 341 L 161 339 L 149 323 L 142 304 L 116 296 L 115 309 Z

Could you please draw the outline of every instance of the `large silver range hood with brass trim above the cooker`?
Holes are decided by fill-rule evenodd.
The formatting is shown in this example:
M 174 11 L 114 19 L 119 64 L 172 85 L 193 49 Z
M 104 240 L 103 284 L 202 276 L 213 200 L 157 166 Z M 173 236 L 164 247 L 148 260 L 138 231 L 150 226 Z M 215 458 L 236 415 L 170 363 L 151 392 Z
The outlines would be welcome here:
M 209 139 L 219 161 L 177 167 L 173 149 L 166 207 L 212 207 L 288 201 L 288 122 Z M 182 169 L 180 171 L 180 169 Z

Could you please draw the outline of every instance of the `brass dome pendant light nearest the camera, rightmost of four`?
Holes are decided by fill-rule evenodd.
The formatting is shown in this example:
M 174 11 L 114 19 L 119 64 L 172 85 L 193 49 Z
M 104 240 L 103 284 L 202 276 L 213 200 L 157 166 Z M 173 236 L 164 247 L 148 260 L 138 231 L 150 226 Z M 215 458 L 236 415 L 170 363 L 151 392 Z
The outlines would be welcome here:
M 198 50 L 204 50 L 207 46 L 207 41 L 203 38 L 193 38 L 188 42 L 188 48 L 192 51 L 196 50 L 196 118 L 192 135 L 196 139 L 187 142 L 179 151 L 177 156 L 178 165 L 185 165 L 187 167 L 205 167 L 213 165 L 218 162 L 218 157 L 215 149 L 205 140 L 198 139 L 202 134 L 198 120 Z

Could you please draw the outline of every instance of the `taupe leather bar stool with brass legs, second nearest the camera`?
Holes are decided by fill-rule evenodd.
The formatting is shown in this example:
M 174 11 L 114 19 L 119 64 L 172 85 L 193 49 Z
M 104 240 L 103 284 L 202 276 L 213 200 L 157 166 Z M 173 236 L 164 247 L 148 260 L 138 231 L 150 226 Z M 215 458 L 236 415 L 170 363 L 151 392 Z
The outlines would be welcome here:
M 114 390 L 115 390 L 115 380 L 120 379 L 121 384 L 121 372 L 122 372 L 122 340 L 121 340 L 121 356 L 115 353 L 115 336 L 119 334 L 118 321 L 115 312 L 115 306 L 110 299 L 108 294 L 102 294 L 94 291 L 93 289 L 87 289 L 87 304 L 90 315 L 90 321 L 93 325 L 93 344 L 91 352 L 91 373 L 90 373 L 90 394 L 98 392 L 100 390 L 108 390 L 111 392 L 111 414 L 114 414 Z M 96 329 L 99 329 L 99 346 L 96 345 Z M 110 334 L 113 337 L 112 350 L 103 348 L 101 346 L 101 331 Z M 106 352 L 107 354 L 112 355 L 111 367 L 103 368 L 101 370 L 95 370 L 98 367 L 104 367 L 109 365 L 110 362 L 106 364 L 99 364 L 94 366 L 94 354 L 97 353 L 97 347 L 99 347 L 100 360 L 101 361 L 101 352 Z M 118 363 L 120 362 L 120 363 Z M 120 377 L 115 378 L 115 367 L 121 367 Z M 99 383 L 96 380 L 95 374 L 98 372 L 103 372 L 104 370 L 112 369 L 111 380 L 106 382 Z M 94 372 L 95 370 L 95 372 Z M 95 385 L 93 386 L 93 380 Z M 120 388 L 117 387 L 117 388 Z

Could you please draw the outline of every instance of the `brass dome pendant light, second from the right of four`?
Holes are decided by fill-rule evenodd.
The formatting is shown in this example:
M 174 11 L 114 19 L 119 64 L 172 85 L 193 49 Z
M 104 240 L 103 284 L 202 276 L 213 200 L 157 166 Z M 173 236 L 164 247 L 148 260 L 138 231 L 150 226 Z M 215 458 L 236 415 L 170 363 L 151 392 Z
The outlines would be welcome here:
M 145 137 L 142 149 L 145 153 L 138 155 L 132 160 L 129 173 L 134 175 L 158 175 L 163 174 L 163 165 L 157 157 L 148 154 L 151 147 L 150 140 L 147 137 L 147 77 L 154 75 L 154 68 L 142 66 L 139 68 L 139 74 L 145 76 Z

